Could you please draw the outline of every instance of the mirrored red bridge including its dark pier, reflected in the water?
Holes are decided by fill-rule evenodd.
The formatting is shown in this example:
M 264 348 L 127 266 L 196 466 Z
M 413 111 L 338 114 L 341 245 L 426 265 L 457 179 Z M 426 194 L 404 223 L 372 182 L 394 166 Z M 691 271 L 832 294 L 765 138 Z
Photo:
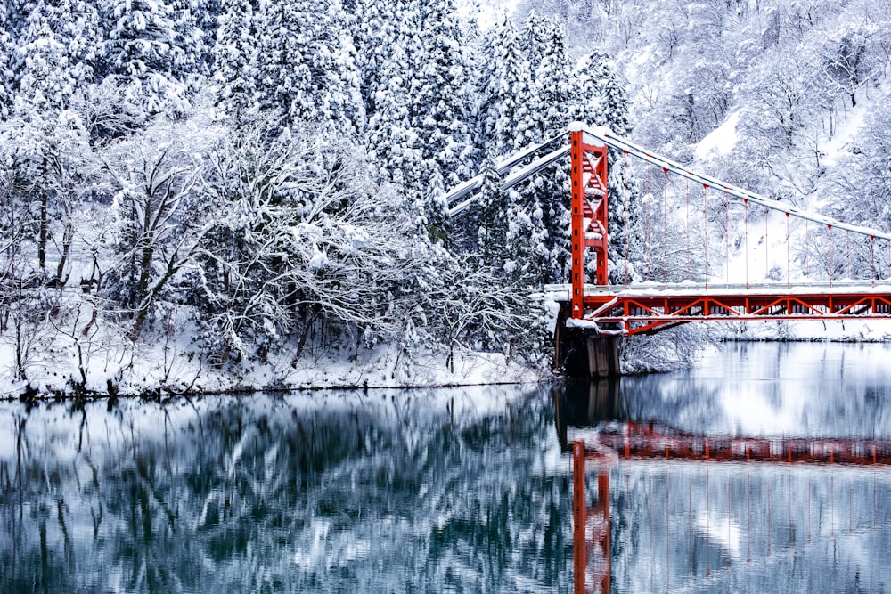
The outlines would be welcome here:
M 853 564 L 858 588 L 884 591 L 891 440 L 685 433 L 629 419 L 617 379 L 553 399 L 572 458 L 576 593 L 787 591 L 803 579 L 833 591 L 792 575 L 804 557 L 825 557 L 830 576 Z

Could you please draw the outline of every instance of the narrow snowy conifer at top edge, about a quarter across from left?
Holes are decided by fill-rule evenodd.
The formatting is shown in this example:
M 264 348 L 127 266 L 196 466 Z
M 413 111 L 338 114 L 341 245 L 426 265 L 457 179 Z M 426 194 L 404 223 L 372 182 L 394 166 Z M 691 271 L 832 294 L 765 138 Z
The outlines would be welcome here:
M 250 0 L 223 0 L 221 10 L 214 45 L 217 104 L 239 127 L 256 105 L 254 11 Z

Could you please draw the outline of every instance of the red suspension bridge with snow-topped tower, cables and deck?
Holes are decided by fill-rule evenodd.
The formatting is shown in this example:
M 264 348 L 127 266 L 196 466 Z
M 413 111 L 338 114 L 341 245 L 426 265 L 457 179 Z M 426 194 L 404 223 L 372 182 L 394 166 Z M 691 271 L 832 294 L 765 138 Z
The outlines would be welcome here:
M 606 128 L 578 123 L 569 128 L 568 142 L 566 135 L 555 137 L 497 167 L 507 189 L 570 156 L 570 283 L 550 288 L 566 304 L 566 327 L 630 336 L 691 321 L 891 318 L 891 233 L 808 212 L 699 174 Z M 615 186 L 624 188 L 617 198 L 624 201 L 620 206 L 625 215 L 625 253 L 612 255 L 621 263 L 613 284 L 609 149 L 621 155 L 614 164 L 620 181 Z M 646 167 L 646 238 L 639 254 L 631 253 L 628 240 L 627 171 L 632 158 Z M 446 194 L 452 215 L 476 201 L 481 182 L 480 175 Z M 670 206 L 670 189 L 676 204 L 681 204 L 677 194 L 683 196 L 683 207 Z M 659 191 L 661 198 L 654 198 Z M 732 227 L 740 219 L 741 237 L 732 240 Z M 803 242 L 796 239 L 800 236 Z M 593 266 L 587 265 L 589 258 Z M 635 279 L 632 260 L 641 268 L 645 262 L 645 277 L 641 270 Z M 616 283 L 618 277 L 624 279 Z

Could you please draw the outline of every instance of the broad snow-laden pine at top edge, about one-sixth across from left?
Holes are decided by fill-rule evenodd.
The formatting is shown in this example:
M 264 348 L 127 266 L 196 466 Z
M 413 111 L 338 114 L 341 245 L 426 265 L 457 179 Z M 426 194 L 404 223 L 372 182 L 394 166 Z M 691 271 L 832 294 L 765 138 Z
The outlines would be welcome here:
M 182 117 L 200 70 L 201 32 L 180 0 L 102 0 L 100 77 L 116 77 L 144 118 Z

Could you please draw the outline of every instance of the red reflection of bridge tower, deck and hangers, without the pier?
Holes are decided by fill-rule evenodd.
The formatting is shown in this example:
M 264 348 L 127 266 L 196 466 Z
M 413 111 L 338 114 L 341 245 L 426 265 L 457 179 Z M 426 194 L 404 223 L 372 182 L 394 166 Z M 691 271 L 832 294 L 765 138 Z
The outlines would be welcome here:
M 788 468 L 792 465 L 803 463 L 824 463 L 829 465 L 891 465 L 891 442 L 881 440 L 854 440 L 854 439 L 804 439 L 804 438 L 747 438 L 747 437 L 715 437 L 704 435 L 688 435 L 670 430 L 657 430 L 653 424 L 638 425 L 626 423 L 609 432 L 598 431 L 593 437 L 584 441 L 576 441 L 572 446 L 573 452 L 573 515 L 574 515 L 574 586 L 576 594 L 588 591 L 607 593 L 610 591 L 611 580 L 611 551 L 610 551 L 610 515 L 609 515 L 609 466 L 610 462 L 623 458 L 627 461 L 634 460 L 685 460 L 702 463 L 714 462 L 757 462 L 767 464 L 783 464 Z M 593 507 L 587 506 L 585 499 L 585 460 L 595 460 L 597 464 L 597 500 Z M 746 495 L 750 496 L 750 476 L 746 476 Z M 835 500 L 834 500 L 834 476 L 830 475 L 830 537 L 835 537 Z M 706 481 L 708 475 L 706 474 Z M 873 476 L 873 526 L 876 524 L 876 494 L 875 477 Z M 793 522 L 792 522 L 792 476 L 791 470 L 788 476 L 789 501 L 785 502 L 787 509 L 779 508 L 778 511 L 787 511 L 789 523 L 788 548 L 794 546 Z M 772 555 L 772 497 L 770 483 L 767 487 L 767 513 L 764 521 L 766 530 L 766 553 Z M 651 488 L 651 487 L 650 487 Z M 807 490 L 807 535 L 806 541 L 811 539 L 811 489 Z M 706 488 L 706 515 L 708 523 L 709 489 Z M 650 492 L 650 503 L 652 492 Z M 688 530 L 692 530 L 692 493 L 688 484 Z M 848 532 L 854 528 L 853 519 L 853 486 L 848 486 Z M 727 507 L 730 508 L 732 500 L 731 484 L 727 485 Z M 751 503 L 747 501 L 747 513 L 745 530 L 748 541 L 745 557 L 746 565 L 751 564 Z M 782 510 L 782 511 L 781 511 Z M 650 510 L 650 522 L 653 515 Z M 723 519 L 723 518 L 722 518 Z M 786 518 L 783 518 L 786 519 Z M 726 538 L 733 540 L 732 517 L 727 516 Z M 723 524 L 723 523 L 722 523 Z M 668 505 L 668 476 L 666 469 L 666 534 L 669 526 Z M 723 530 L 723 525 L 719 528 Z M 711 528 L 706 524 L 706 532 Z M 692 547 L 691 535 L 686 539 L 688 546 Z M 669 564 L 669 549 L 666 536 L 666 569 Z M 650 543 L 652 544 L 652 542 Z M 705 548 L 706 566 L 705 576 L 708 578 L 712 567 L 708 561 L 709 548 Z M 692 549 L 689 553 L 691 578 L 692 575 Z M 731 556 L 726 559 L 726 566 L 731 566 Z M 668 576 L 666 574 L 666 590 L 669 589 Z M 589 590 L 591 584 L 594 590 Z

